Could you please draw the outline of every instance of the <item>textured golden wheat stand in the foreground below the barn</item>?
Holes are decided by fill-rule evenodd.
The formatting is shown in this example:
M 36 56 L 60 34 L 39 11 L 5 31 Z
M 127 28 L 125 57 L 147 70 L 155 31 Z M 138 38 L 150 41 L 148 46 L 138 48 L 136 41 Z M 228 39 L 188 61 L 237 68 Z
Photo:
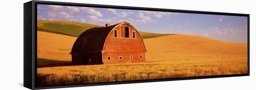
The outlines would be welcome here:
M 136 64 L 38 68 L 37 84 L 38 86 L 86 84 L 247 73 L 247 56 L 216 56 L 202 58 L 205 60 L 179 59 Z

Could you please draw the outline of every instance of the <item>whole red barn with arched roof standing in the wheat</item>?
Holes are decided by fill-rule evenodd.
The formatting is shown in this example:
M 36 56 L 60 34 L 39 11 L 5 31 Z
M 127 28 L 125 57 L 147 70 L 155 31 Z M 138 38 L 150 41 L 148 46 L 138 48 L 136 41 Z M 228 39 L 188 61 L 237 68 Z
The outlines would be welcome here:
M 71 50 L 74 64 L 145 62 L 146 48 L 134 26 L 127 22 L 83 32 Z

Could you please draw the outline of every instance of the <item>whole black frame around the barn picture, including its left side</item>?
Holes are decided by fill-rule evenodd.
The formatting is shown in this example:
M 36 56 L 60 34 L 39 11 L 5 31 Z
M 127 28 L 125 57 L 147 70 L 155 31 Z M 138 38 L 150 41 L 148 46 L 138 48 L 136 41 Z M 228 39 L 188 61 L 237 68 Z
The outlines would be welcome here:
M 132 10 L 147 10 L 147 11 L 177 12 L 177 13 L 200 13 L 200 14 L 214 14 L 214 15 L 245 16 L 245 17 L 248 17 L 248 73 L 247 74 L 220 75 L 220 76 L 182 77 L 182 78 L 168 78 L 168 79 L 154 79 L 154 80 L 136 80 L 136 81 L 122 81 L 122 82 L 105 82 L 105 83 L 93 83 L 93 84 L 72 84 L 72 85 L 37 87 L 37 84 L 36 84 L 37 83 L 37 38 L 36 38 L 37 37 L 37 33 L 36 33 L 36 30 L 37 30 L 36 29 L 36 27 L 37 27 L 37 24 L 36 24 L 36 22 L 37 22 L 37 18 L 36 18 L 37 17 L 37 4 L 62 5 L 62 6 L 86 6 L 86 7 L 132 9 Z M 81 86 L 95 86 L 95 85 L 109 85 L 109 84 L 130 84 L 130 83 L 217 78 L 217 77 L 249 76 L 249 72 L 250 72 L 250 70 L 249 70 L 249 61 L 250 61 L 250 59 L 249 59 L 249 44 L 250 44 L 250 42 L 249 42 L 249 14 L 32 0 L 32 1 L 24 3 L 24 87 L 34 90 L 34 89 L 52 89 L 52 88 L 67 88 L 67 87 L 81 87 Z

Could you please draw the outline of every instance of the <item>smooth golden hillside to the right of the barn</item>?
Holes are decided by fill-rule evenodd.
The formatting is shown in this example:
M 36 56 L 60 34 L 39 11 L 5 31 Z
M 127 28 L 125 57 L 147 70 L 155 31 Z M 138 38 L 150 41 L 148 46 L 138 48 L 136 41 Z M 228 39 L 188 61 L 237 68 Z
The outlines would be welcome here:
M 144 39 L 146 59 L 173 60 L 211 58 L 224 56 L 247 56 L 247 44 L 236 44 L 192 35 L 168 35 Z

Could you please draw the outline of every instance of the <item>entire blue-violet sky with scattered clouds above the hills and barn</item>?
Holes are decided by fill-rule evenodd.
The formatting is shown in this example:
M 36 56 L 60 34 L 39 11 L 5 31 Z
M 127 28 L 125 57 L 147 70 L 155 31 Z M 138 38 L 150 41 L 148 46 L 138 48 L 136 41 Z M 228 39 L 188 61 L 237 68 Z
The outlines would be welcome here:
M 155 12 L 79 6 L 38 5 L 38 20 L 65 20 L 105 26 L 127 21 L 139 31 L 179 33 L 247 43 L 247 17 Z

